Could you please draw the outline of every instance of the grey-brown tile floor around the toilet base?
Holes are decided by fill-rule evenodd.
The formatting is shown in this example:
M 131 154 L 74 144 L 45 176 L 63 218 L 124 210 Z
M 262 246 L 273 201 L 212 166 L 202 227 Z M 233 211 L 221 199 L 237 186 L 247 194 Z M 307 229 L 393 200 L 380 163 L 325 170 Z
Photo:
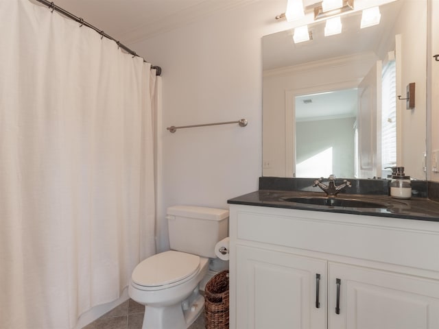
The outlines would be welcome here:
M 130 299 L 82 329 L 141 329 L 144 311 L 145 306 Z M 189 329 L 204 329 L 204 314 Z

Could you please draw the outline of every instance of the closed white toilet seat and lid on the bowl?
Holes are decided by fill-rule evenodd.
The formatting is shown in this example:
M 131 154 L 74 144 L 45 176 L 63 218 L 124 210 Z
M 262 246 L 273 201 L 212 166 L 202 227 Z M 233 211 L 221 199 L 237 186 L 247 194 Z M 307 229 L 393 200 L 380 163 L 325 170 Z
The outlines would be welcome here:
M 143 260 L 132 272 L 141 290 L 161 290 L 190 280 L 200 270 L 200 256 L 169 250 Z

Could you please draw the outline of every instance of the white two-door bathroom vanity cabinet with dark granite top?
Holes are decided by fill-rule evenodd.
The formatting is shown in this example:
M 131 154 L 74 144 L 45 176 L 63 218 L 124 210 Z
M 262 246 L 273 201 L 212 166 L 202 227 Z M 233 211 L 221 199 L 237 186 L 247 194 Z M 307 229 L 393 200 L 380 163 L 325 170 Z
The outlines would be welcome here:
M 285 202 L 304 195 L 228 200 L 230 328 L 439 328 L 438 203 L 388 195 L 368 196 L 387 208 Z

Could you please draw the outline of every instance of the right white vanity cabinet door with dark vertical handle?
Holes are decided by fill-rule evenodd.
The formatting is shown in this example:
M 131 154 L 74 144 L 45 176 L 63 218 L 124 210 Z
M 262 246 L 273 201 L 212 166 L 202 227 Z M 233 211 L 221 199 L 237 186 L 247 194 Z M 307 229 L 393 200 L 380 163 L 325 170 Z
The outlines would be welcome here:
M 328 267 L 329 329 L 439 328 L 436 280 L 338 263 Z

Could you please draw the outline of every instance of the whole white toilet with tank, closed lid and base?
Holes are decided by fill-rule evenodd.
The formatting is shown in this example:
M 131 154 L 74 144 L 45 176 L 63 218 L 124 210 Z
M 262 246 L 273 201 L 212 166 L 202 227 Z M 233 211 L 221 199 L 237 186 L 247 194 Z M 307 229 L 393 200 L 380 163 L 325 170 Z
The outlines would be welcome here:
M 145 305 L 142 329 L 187 329 L 204 309 L 200 282 L 228 235 L 228 210 L 167 208 L 171 250 L 143 260 L 132 271 L 128 294 Z

